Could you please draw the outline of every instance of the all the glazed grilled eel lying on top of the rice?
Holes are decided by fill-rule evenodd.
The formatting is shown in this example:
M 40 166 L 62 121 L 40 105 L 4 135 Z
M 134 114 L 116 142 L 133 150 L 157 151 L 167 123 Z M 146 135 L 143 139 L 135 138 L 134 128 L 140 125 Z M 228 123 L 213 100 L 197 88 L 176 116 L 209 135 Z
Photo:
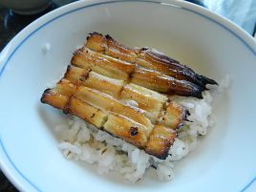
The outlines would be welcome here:
M 93 32 L 41 102 L 164 160 L 189 115 L 168 95 L 201 98 L 207 83 L 217 84 L 165 55 Z

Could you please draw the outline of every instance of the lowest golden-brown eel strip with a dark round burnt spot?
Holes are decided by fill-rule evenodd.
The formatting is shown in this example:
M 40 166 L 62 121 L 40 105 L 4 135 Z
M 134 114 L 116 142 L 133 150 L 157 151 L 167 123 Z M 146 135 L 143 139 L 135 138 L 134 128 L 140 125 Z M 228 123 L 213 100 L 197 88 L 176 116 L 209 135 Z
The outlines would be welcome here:
M 66 78 L 62 78 L 55 88 L 47 89 L 41 97 L 41 102 L 62 109 L 64 113 L 81 117 L 98 129 L 124 139 L 160 159 L 166 159 L 169 148 L 177 136 L 174 130 L 176 127 L 172 129 L 171 126 L 165 126 L 169 124 L 168 121 L 154 124 L 145 116 L 143 110 Z M 164 114 L 166 117 L 169 116 L 170 125 L 174 126 L 174 123 L 177 123 L 175 120 L 180 121 L 185 115 L 182 109 L 181 107 L 176 111 L 180 114 L 179 118 L 175 117 L 177 114 Z

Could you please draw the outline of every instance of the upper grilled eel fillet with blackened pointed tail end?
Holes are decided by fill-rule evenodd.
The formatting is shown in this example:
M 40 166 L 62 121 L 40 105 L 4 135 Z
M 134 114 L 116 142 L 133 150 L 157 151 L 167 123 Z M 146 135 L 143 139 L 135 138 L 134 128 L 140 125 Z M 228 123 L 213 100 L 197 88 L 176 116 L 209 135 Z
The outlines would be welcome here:
M 108 61 L 119 62 L 123 65 L 130 63 L 134 68 L 130 66 L 129 70 L 127 68 L 118 69 L 126 74 L 124 77 L 129 76 L 129 80 L 133 83 L 158 92 L 202 98 L 206 84 L 217 84 L 213 79 L 198 75 L 177 60 L 152 52 L 147 48 L 125 47 L 117 43 L 110 35 L 103 36 L 93 32 L 87 37 L 85 47 L 87 49 L 84 48 L 75 53 L 74 64 L 82 65 L 90 59 L 96 59 L 103 63 Z

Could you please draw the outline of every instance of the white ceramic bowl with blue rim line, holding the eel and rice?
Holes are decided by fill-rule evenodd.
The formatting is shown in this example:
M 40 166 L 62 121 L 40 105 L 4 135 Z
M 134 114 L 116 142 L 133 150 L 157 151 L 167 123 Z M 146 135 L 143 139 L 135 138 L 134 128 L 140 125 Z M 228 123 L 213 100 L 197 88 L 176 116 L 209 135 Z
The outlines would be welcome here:
M 177 163 L 173 181 L 148 174 L 137 184 L 125 183 L 58 151 L 53 126 L 65 116 L 39 99 L 93 31 L 129 46 L 157 48 L 217 81 L 230 75 L 230 90 L 215 106 L 216 125 Z M 173 0 L 65 6 L 17 34 L 0 55 L 1 169 L 21 191 L 255 191 L 255 72 L 253 38 L 201 7 Z

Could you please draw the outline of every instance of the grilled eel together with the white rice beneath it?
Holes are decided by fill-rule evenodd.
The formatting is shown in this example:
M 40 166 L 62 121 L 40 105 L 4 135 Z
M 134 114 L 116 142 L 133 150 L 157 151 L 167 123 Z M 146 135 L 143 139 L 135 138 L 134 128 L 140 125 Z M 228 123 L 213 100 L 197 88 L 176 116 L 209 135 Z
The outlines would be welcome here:
M 161 181 L 213 126 L 212 104 L 228 85 L 198 75 L 154 49 L 132 49 L 90 33 L 65 75 L 41 102 L 62 110 L 54 127 L 69 160 L 139 181 L 152 168 Z

